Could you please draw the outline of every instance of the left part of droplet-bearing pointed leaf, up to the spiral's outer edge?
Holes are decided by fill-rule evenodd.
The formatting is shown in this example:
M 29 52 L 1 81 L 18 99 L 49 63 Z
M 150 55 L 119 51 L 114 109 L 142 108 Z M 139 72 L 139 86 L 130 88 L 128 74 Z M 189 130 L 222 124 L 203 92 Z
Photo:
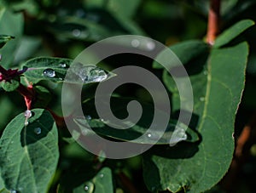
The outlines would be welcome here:
M 26 61 L 22 66 L 27 68 L 24 76 L 31 82 L 36 83 L 41 80 L 61 82 L 72 62 L 73 60 L 70 59 L 38 57 Z

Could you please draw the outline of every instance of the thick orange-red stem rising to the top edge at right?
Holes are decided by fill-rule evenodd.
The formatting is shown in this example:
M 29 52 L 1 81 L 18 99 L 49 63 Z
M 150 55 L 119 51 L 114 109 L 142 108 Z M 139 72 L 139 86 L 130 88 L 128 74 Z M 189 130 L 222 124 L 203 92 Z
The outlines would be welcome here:
M 214 44 L 215 38 L 218 35 L 219 28 L 219 10 L 221 0 L 211 0 L 208 14 L 208 28 L 207 28 L 207 43 Z

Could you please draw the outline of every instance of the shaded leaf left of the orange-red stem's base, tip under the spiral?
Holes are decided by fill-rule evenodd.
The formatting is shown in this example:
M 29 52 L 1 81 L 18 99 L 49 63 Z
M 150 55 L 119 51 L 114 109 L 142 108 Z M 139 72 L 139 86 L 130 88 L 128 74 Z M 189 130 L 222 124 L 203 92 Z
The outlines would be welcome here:
M 186 42 L 177 43 L 171 46 L 170 49 L 174 54 L 177 55 L 177 58 L 182 62 L 182 64 L 186 65 L 190 60 L 194 60 L 201 54 L 206 53 L 209 50 L 209 46 L 207 43 L 203 43 L 199 40 L 189 40 Z M 160 58 L 161 60 L 170 60 L 170 55 L 167 52 L 161 52 L 157 58 Z M 154 60 L 153 68 L 162 69 L 164 66 L 160 65 Z

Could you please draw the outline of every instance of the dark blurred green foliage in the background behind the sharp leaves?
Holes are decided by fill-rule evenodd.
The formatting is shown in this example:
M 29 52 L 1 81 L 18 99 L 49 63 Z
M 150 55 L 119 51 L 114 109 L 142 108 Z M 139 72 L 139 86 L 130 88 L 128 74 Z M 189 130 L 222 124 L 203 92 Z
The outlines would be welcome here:
M 207 34 L 207 12 L 209 1 L 206 0 L 1 0 L 0 34 L 15 37 L 1 49 L 4 67 L 19 66 L 23 61 L 36 56 L 55 56 L 74 59 L 84 48 L 106 37 L 123 34 L 136 34 L 152 37 L 166 45 L 172 45 L 189 39 L 205 39 Z M 221 31 L 241 19 L 256 20 L 255 0 L 223 0 L 221 8 Z M 256 110 L 256 28 L 248 30 L 242 37 L 250 46 L 247 65 L 246 88 L 236 117 L 236 138 L 241 129 L 249 122 Z M 152 61 L 144 57 L 131 57 L 123 54 L 102 61 L 103 68 L 111 70 L 119 65 L 142 65 L 152 70 Z M 161 76 L 160 71 L 154 74 Z M 236 83 L 236 80 L 234 80 Z M 49 88 L 52 96 L 49 106 L 61 114 L 61 85 L 41 82 Z M 131 85 L 127 86 L 128 88 Z M 120 94 L 147 98 L 141 88 L 119 88 Z M 84 92 L 89 97 L 90 90 Z M 86 95 L 87 94 L 87 95 Z M 89 95 L 88 95 L 89 94 Z M 0 88 L 0 130 L 15 115 L 26 109 L 22 97 L 17 93 L 5 93 Z M 256 145 L 256 144 L 255 144 Z M 236 185 L 237 192 L 255 192 L 253 176 L 256 174 L 256 150 L 251 149 L 247 162 L 241 169 Z M 90 173 L 93 156 L 79 145 L 61 146 L 61 162 L 55 174 L 53 187 L 57 179 L 65 184 L 70 176 Z M 115 171 L 122 171 L 137 187 L 139 192 L 147 192 L 143 184 L 141 157 L 125 161 L 110 162 L 108 166 Z M 88 165 L 88 167 L 84 167 Z M 74 169 L 68 170 L 73 167 Z M 78 174 L 78 171 L 80 174 Z M 60 177 L 62 176 L 62 177 Z M 79 176 L 80 177 L 80 176 Z M 73 177 L 75 182 L 77 177 Z M 120 179 L 121 181 L 121 179 Z M 119 187 L 117 182 L 117 186 Z M 122 192 L 120 185 L 118 192 Z M 212 192 L 221 192 L 216 186 Z

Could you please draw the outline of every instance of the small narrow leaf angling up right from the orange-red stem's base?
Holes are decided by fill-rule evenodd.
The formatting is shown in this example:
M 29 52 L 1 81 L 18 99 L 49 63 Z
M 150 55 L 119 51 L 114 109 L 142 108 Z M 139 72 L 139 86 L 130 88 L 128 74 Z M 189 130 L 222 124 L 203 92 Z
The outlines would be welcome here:
M 227 43 L 230 43 L 231 40 L 236 38 L 241 32 L 247 30 L 250 26 L 253 26 L 253 20 L 241 20 L 236 23 L 234 26 L 231 26 L 229 29 L 225 30 L 222 34 L 220 34 L 213 45 L 214 48 L 219 48 L 224 46 Z

